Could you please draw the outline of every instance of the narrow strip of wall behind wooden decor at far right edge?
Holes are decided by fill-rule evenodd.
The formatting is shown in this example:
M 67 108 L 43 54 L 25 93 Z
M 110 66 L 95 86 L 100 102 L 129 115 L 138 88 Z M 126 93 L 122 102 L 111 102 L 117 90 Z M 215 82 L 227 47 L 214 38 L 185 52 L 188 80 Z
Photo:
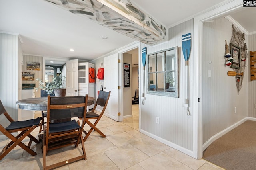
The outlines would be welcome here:
M 248 67 L 250 68 L 250 51 L 256 51 L 256 34 L 248 36 Z M 249 69 L 248 69 L 249 70 Z M 250 71 L 250 70 L 249 70 Z M 249 84 L 248 84 L 248 96 L 249 96 L 249 113 L 248 117 L 256 118 L 256 109 L 254 108 L 254 104 L 256 104 L 256 80 L 250 80 L 250 72 L 249 74 Z

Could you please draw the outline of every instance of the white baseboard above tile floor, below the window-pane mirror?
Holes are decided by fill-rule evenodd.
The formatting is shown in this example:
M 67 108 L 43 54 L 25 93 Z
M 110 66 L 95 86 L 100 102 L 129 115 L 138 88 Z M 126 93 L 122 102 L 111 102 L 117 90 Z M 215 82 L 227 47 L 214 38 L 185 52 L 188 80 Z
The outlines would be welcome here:
M 184 147 L 181 147 L 181 146 L 179 146 L 179 145 L 177 145 L 177 144 L 175 144 L 175 143 L 172 143 L 172 142 L 170 142 L 170 141 L 167 141 L 166 139 L 162 139 L 161 137 L 158 137 L 158 136 L 156 136 L 156 135 L 154 135 L 154 134 L 152 134 L 152 133 L 148 133 L 147 131 L 144 131 L 144 130 L 142 130 L 142 129 L 140 129 L 140 132 L 143 133 L 143 134 L 145 134 L 145 135 L 147 135 L 147 136 L 149 136 L 149 137 L 151 137 L 151 138 L 153 138 L 153 139 L 156 139 L 156 140 L 159 141 L 159 142 L 164 143 L 165 145 L 168 145 L 168 146 L 170 146 L 170 147 L 172 147 L 172 148 L 174 148 L 174 149 L 177 149 L 177 150 L 179 150 L 180 152 L 183 152 L 184 154 L 187 154 L 187 155 L 189 155 L 189 156 L 191 156 L 191 157 L 194 156 L 194 152 L 193 152 L 192 150 L 188 150 L 188 149 L 186 149 L 186 148 L 184 148 Z

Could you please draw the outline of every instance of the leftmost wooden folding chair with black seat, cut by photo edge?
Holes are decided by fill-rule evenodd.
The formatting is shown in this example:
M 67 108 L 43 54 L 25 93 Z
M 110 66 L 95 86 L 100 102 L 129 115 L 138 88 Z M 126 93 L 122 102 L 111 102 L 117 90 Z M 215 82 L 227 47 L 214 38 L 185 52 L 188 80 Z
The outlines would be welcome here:
M 8 125 L 6 128 L 4 128 L 0 123 L 0 131 L 8 137 L 11 141 L 2 149 L 2 152 L 0 152 L 0 160 L 4 158 L 14 147 L 19 145 L 22 149 L 26 150 L 31 155 L 36 155 L 36 152 L 34 152 L 32 149 L 30 149 L 30 146 L 32 144 L 32 141 L 35 143 L 40 143 L 33 135 L 30 133 L 37 127 L 40 126 L 41 118 L 38 117 L 36 119 L 30 119 L 30 120 L 24 120 L 24 121 L 14 121 L 12 117 L 7 113 L 6 109 L 4 108 L 1 100 L 0 100 L 0 115 L 2 116 L 4 114 L 5 117 L 1 118 L 1 121 L 4 121 L 4 119 L 8 119 L 10 121 L 10 125 Z M 12 133 L 13 132 L 20 132 L 15 137 Z M 22 140 L 25 137 L 29 137 L 30 141 L 28 145 L 25 145 L 22 143 Z

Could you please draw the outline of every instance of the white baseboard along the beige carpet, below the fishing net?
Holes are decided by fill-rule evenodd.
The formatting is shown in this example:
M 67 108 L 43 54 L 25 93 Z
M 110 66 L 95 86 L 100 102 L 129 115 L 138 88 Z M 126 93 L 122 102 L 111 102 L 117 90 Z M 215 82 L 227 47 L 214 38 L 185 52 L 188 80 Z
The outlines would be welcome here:
M 247 120 L 252 120 L 252 121 L 256 121 L 256 118 L 253 117 L 245 117 L 244 119 L 234 123 L 233 125 L 231 125 L 230 127 L 227 127 L 226 129 L 224 129 L 223 131 L 220 131 L 219 133 L 217 133 L 216 135 L 213 135 L 210 139 L 208 139 L 208 141 L 206 141 L 206 143 L 203 144 L 203 150 L 205 150 L 207 147 L 209 147 L 209 145 L 211 143 L 213 143 L 216 139 L 222 137 L 223 135 L 225 135 L 226 133 L 228 133 L 229 131 L 231 131 L 232 129 L 238 127 L 239 125 L 241 125 L 242 123 L 244 123 Z

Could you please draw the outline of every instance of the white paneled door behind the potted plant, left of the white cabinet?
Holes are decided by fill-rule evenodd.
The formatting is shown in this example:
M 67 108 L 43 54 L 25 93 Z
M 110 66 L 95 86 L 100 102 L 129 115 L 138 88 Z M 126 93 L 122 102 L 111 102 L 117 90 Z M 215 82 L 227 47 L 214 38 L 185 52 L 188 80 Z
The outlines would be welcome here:
M 77 96 L 78 59 L 66 61 L 66 96 Z

